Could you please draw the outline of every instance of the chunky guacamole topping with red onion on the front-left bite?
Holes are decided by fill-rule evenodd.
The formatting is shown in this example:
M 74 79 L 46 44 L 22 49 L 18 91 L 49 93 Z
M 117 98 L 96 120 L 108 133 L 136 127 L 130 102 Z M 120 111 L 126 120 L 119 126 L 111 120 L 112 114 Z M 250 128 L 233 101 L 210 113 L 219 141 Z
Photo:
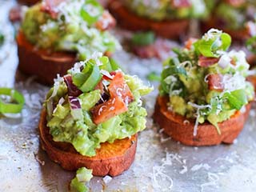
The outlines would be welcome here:
M 145 129 L 141 96 L 152 88 L 112 63 L 93 54 L 55 79 L 45 102 L 47 126 L 55 142 L 70 142 L 80 154 L 91 157 L 102 142 Z

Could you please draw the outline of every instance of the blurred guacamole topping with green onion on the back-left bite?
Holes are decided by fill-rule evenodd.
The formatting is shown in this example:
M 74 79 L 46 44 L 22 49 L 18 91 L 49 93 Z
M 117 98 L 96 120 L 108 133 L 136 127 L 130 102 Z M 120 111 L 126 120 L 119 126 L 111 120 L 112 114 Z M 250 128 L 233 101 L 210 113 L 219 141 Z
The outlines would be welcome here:
M 95 51 L 120 48 L 108 32 L 114 18 L 96 0 L 45 0 L 26 11 L 21 30 L 34 46 L 71 51 L 84 60 Z

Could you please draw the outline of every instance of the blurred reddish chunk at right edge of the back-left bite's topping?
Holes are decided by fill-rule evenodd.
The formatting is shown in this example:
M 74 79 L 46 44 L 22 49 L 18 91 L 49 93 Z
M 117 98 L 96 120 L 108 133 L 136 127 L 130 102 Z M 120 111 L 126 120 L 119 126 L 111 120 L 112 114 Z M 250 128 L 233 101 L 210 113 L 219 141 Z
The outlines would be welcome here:
M 116 21 L 108 11 L 104 11 L 102 17 L 95 23 L 98 30 L 110 30 L 115 25 Z

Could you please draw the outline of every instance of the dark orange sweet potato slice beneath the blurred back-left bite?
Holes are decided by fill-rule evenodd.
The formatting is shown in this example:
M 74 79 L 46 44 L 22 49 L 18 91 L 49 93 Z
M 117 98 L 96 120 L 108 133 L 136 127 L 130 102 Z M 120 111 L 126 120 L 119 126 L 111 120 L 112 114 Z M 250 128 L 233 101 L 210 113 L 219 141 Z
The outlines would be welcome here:
M 38 82 L 52 85 L 57 74 L 63 76 L 77 61 L 76 54 L 68 52 L 49 53 L 46 50 L 35 49 L 27 42 L 21 31 L 17 35 L 18 70 L 24 74 L 37 76 Z

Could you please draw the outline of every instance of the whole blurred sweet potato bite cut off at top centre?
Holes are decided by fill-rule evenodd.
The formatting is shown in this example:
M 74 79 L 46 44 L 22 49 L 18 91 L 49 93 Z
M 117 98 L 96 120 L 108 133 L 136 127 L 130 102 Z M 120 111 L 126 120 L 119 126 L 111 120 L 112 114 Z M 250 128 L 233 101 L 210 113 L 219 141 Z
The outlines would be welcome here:
M 186 31 L 190 18 L 207 14 L 202 0 L 112 0 L 109 9 L 118 24 L 127 30 L 151 30 L 164 38 L 178 38 Z

